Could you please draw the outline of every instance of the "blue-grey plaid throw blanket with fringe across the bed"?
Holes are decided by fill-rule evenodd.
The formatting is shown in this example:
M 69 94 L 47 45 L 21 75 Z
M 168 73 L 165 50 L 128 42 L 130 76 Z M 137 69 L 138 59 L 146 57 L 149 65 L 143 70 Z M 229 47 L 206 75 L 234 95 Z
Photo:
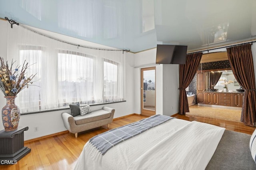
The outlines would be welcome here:
M 89 140 L 100 154 L 104 155 L 113 146 L 132 138 L 146 130 L 160 125 L 174 117 L 164 115 L 154 115 L 138 122 L 130 123 L 128 125 L 108 130 L 102 134 L 98 134 Z

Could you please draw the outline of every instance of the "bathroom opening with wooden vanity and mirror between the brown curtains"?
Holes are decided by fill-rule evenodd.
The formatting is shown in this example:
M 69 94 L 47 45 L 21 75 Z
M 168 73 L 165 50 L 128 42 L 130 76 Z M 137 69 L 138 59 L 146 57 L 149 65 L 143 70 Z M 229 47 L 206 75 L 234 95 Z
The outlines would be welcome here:
M 186 115 L 240 122 L 243 94 L 237 93 L 239 88 L 226 51 L 203 54 L 188 90 L 196 94 L 198 105 L 191 106 Z

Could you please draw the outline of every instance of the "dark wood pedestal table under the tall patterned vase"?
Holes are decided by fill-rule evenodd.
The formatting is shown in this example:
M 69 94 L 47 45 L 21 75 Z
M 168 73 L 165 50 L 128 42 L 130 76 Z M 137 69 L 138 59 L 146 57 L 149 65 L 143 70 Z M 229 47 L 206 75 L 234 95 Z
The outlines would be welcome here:
M 28 130 L 28 127 L 18 127 L 10 132 L 0 131 L 0 165 L 16 164 L 31 151 L 24 147 L 24 130 Z

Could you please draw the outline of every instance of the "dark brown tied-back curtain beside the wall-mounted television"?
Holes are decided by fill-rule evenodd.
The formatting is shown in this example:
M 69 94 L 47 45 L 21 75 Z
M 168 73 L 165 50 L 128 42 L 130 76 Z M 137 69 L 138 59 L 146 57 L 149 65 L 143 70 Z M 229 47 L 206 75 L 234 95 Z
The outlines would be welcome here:
M 186 94 L 186 88 L 194 78 L 198 65 L 201 61 L 203 53 L 193 53 L 186 55 L 186 64 L 179 65 L 179 90 L 180 90 L 180 108 L 179 114 L 185 115 L 189 112 L 188 97 Z

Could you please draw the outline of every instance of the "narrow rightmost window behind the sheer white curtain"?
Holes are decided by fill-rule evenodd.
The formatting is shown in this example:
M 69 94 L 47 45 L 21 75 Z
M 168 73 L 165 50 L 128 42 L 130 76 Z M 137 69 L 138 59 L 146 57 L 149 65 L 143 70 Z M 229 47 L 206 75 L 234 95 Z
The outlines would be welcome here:
M 118 98 L 118 63 L 104 59 L 103 99 L 116 101 Z

